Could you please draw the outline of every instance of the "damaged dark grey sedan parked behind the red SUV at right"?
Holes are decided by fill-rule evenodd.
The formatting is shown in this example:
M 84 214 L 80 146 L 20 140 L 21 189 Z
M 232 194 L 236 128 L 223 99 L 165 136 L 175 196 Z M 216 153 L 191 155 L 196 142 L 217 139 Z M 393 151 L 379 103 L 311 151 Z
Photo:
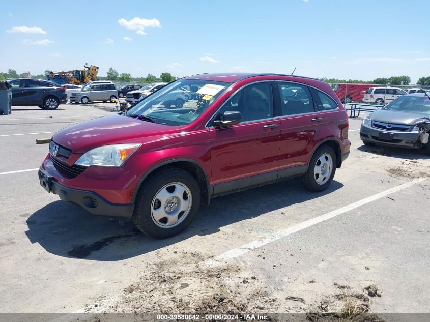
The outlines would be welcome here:
M 422 142 L 417 125 L 423 119 L 430 120 L 430 98 L 423 93 L 408 94 L 368 114 L 361 124 L 360 139 L 365 145 L 424 148 L 430 154 L 430 144 Z

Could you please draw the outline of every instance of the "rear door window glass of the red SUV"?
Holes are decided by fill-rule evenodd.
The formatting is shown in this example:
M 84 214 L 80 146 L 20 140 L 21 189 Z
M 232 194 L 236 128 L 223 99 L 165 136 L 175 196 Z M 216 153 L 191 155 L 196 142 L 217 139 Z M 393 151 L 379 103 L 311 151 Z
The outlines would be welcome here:
M 281 115 L 296 115 L 314 112 L 313 100 L 305 85 L 276 82 L 281 102 Z

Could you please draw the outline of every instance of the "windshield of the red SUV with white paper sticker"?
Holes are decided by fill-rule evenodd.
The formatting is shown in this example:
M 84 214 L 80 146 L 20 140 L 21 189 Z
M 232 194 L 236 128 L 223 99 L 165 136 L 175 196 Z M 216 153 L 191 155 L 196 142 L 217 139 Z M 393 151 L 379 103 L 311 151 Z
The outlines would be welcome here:
M 166 125 L 187 125 L 211 106 L 229 85 L 210 80 L 177 80 L 137 103 L 127 115 L 149 116 Z M 188 101 L 184 86 L 195 94 Z

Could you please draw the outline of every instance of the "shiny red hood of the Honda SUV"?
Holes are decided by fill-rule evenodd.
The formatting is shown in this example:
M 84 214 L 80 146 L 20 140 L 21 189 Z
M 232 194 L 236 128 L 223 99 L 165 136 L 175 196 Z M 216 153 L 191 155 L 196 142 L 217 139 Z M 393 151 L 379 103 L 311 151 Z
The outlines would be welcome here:
M 136 120 L 118 114 L 84 121 L 56 132 L 55 143 L 85 153 L 101 145 L 116 143 L 143 143 L 160 135 L 178 133 L 180 126 L 169 126 Z

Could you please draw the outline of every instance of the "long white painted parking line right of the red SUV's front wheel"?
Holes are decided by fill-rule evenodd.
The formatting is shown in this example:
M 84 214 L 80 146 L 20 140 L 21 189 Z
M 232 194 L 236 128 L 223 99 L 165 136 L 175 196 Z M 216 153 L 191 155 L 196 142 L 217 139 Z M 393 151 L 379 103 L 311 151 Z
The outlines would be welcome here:
M 206 265 L 209 265 L 209 266 L 220 265 L 221 262 L 224 262 L 225 260 L 232 259 L 232 258 L 238 257 L 240 255 L 243 255 L 243 254 L 249 252 L 250 250 L 253 250 L 253 249 L 262 247 L 264 245 L 267 245 L 269 243 L 275 242 L 278 239 L 281 239 L 281 238 L 284 238 L 284 237 L 286 237 L 288 235 L 291 235 L 294 232 L 297 232 L 299 230 L 305 229 L 305 228 L 310 227 L 312 225 L 318 224 L 320 222 L 323 222 L 323 221 L 325 221 L 327 219 L 336 217 L 338 215 L 344 214 L 344 213 L 346 213 L 346 212 L 348 212 L 350 210 L 353 210 L 353 209 L 356 209 L 356 208 L 358 208 L 360 206 L 363 206 L 366 203 L 378 200 L 378 199 L 380 199 L 382 197 L 385 197 L 385 196 L 387 196 L 387 195 L 389 195 L 391 193 L 394 193 L 396 191 L 408 188 L 408 187 L 410 187 L 412 185 L 415 185 L 415 184 L 417 184 L 419 182 L 422 182 L 424 180 L 426 180 L 426 178 L 418 178 L 418 179 L 412 180 L 410 182 L 404 183 L 402 185 L 399 185 L 397 187 L 394 187 L 394 188 L 391 188 L 391 189 L 379 192 L 379 193 L 374 194 L 374 195 L 372 195 L 370 197 L 367 197 L 367 198 L 358 200 L 356 202 L 353 202 L 351 204 L 348 204 L 348 206 L 345 206 L 345 207 L 333 210 L 333 211 L 331 211 L 329 213 L 326 213 L 324 215 L 321 215 L 321 216 L 318 216 L 318 217 L 315 217 L 315 218 L 303 221 L 303 222 L 301 222 L 301 223 L 299 223 L 297 225 L 293 225 L 291 227 L 288 227 L 286 229 L 278 231 L 272 237 L 268 237 L 268 238 L 265 238 L 265 239 L 262 239 L 262 240 L 253 241 L 253 242 L 250 242 L 248 244 L 242 245 L 242 246 L 240 246 L 238 248 L 234 248 L 232 250 L 226 251 L 225 253 L 222 253 L 222 254 L 218 255 L 217 257 L 215 257 L 215 258 L 203 261 L 203 264 L 206 264 Z

